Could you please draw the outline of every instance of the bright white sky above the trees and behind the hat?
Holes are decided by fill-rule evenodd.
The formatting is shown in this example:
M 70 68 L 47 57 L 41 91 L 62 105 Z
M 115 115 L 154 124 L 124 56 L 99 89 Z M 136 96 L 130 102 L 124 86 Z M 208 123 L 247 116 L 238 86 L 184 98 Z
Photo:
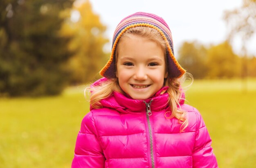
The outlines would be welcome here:
M 164 18 L 171 29 L 174 50 L 183 41 L 197 40 L 205 45 L 219 44 L 227 37 L 226 23 L 222 19 L 225 10 L 240 7 L 242 0 L 90 0 L 93 11 L 100 15 L 107 26 L 110 39 L 105 49 L 111 50 L 112 35 L 117 24 L 126 16 L 144 11 Z M 256 55 L 256 35 L 248 42 L 249 53 Z M 240 51 L 241 41 L 236 38 L 233 48 Z

